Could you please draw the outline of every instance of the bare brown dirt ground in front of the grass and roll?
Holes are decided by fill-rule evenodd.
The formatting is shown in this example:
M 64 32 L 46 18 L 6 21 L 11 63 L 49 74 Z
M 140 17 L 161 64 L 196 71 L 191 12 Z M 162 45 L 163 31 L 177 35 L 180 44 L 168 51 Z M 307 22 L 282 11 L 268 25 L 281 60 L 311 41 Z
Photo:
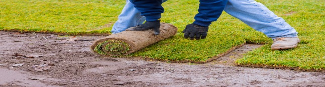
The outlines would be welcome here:
M 246 44 L 206 64 L 103 58 L 104 36 L 0 31 L 0 87 L 324 87 L 325 73 L 233 66 L 261 45 Z

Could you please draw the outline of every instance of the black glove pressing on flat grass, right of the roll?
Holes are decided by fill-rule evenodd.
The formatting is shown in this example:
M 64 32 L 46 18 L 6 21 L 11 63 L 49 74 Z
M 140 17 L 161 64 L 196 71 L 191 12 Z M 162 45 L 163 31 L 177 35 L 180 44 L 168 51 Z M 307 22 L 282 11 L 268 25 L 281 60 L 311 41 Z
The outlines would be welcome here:
M 199 40 L 199 39 L 204 39 L 207 35 L 207 30 L 209 29 L 209 27 L 204 27 L 204 26 L 200 26 L 200 25 L 196 25 L 196 24 L 188 24 L 186 25 L 185 29 L 183 30 L 184 33 L 184 38 L 188 38 L 190 40 L 195 39 Z

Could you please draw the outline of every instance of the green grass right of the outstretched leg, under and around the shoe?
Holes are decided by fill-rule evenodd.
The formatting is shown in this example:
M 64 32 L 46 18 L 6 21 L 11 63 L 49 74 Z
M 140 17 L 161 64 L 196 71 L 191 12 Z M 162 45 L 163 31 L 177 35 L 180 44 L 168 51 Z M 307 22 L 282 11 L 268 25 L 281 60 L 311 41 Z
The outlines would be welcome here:
M 267 3 L 266 0 L 260 1 Z M 281 0 L 281 3 L 268 5 L 297 30 L 301 42 L 297 48 L 281 51 L 270 50 L 269 43 L 247 53 L 236 63 L 248 67 L 324 71 L 325 0 Z

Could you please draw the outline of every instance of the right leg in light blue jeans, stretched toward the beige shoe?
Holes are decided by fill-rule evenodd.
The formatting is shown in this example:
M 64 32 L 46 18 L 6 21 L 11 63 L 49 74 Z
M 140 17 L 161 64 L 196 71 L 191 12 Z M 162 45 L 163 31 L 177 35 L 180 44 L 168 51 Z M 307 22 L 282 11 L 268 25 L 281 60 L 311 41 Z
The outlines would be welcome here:
M 228 0 L 224 10 L 272 39 L 297 37 L 296 30 L 283 18 L 255 0 Z

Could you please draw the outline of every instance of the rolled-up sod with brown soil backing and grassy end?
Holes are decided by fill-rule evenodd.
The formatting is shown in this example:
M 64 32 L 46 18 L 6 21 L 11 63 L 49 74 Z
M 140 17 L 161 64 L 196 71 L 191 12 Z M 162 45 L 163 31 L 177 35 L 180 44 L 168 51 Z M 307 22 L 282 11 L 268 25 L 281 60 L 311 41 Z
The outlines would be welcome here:
M 177 28 L 174 25 L 161 23 L 159 35 L 154 35 L 151 29 L 146 31 L 123 31 L 96 40 L 90 48 L 100 55 L 123 56 L 174 36 L 176 33 Z

